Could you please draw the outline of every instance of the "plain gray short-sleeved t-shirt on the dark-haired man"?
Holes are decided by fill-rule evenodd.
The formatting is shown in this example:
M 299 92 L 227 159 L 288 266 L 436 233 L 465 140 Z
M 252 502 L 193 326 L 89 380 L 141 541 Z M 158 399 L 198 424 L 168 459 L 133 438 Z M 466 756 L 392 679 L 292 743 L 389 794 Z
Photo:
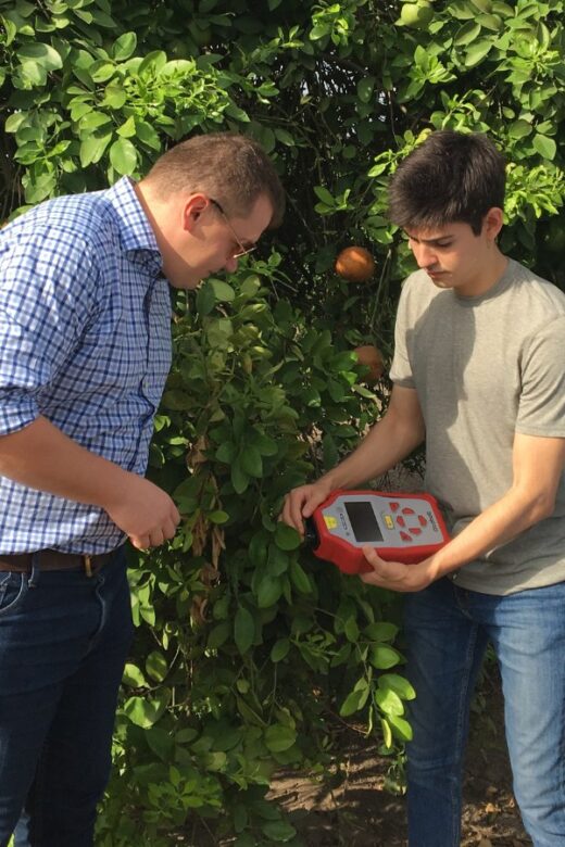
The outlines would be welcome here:
M 426 490 L 453 534 L 511 488 L 515 433 L 565 438 L 565 294 L 513 260 L 486 294 L 404 283 L 391 379 L 426 421 Z M 457 585 L 512 594 L 565 581 L 565 475 L 553 515 L 465 565 Z

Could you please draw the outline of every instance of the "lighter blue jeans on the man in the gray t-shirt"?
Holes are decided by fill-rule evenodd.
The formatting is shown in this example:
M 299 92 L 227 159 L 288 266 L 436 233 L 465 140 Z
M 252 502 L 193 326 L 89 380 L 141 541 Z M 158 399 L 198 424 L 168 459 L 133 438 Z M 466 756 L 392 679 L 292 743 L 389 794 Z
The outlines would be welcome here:
M 410 847 L 459 847 L 469 704 L 489 640 L 514 794 L 535 847 L 565 847 L 565 583 L 505 597 L 442 579 L 406 597 Z

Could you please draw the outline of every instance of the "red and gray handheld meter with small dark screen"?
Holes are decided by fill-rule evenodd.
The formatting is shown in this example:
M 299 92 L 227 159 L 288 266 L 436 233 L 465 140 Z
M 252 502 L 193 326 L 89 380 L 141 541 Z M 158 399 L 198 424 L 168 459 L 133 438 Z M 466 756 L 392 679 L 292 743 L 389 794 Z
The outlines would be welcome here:
M 343 573 L 367 573 L 362 547 L 384 559 L 414 564 L 450 540 L 431 494 L 334 491 L 306 520 L 314 554 Z

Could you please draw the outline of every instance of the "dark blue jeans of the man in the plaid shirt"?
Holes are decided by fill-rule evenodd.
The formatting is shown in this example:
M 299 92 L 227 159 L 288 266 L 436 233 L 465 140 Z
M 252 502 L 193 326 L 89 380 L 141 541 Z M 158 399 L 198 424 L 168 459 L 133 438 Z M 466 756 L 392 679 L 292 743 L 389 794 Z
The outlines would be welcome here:
M 0 573 L 0 847 L 91 847 L 131 635 L 123 551 Z

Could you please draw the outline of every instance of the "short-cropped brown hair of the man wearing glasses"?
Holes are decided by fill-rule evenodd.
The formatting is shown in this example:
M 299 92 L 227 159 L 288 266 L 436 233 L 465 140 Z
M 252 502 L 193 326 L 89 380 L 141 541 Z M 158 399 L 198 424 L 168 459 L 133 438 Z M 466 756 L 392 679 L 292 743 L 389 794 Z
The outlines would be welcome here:
M 285 214 L 285 190 L 263 148 L 236 132 L 193 136 L 163 153 L 146 177 L 158 195 L 204 191 L 229 216 L 244 217 L 261 194 L 273 206 L 269 228 Z

